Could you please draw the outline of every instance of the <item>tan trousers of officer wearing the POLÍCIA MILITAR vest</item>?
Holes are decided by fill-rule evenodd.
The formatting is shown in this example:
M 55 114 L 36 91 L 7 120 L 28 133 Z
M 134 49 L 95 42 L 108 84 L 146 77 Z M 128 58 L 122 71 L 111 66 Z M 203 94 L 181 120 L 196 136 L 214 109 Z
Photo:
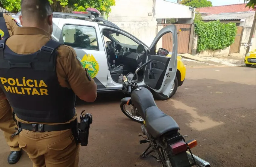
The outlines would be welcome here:
M 77 167 L 79 146 L 71 130 L 33 132 L 22 130 L 19 147 L 27 152 L 33 167 Z

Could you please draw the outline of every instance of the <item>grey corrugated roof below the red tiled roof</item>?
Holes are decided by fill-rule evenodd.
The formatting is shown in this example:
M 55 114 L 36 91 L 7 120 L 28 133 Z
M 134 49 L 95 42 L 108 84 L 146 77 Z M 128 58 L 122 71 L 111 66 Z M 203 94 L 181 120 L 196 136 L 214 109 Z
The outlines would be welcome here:
M 204 16 L 203 20 L 239 20 L 254 15 L 255 12 L 220 13 Z

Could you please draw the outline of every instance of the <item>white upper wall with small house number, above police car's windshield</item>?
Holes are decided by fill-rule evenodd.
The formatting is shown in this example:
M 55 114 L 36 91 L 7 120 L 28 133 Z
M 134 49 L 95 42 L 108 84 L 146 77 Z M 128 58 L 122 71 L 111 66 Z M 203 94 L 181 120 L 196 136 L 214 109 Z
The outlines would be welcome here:
M 148 16 L 152 13 L 152 16 Z M 108 20 L 119 21 L 152 21 L 153 0 L 115 0 Z

